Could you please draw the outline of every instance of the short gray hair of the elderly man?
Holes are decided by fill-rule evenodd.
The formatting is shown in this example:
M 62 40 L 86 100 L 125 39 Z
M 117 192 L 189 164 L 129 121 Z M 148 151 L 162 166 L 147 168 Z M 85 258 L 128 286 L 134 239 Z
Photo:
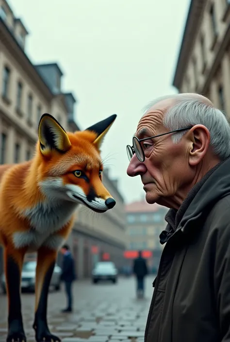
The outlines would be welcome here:
M 165 112 L 163 125 L 167 130 L 204 125 L 210 132 L 210 145 L 221 160 L 230 156 L 230 124 L 226 116 L 217 108 L 188 94 L 173 94 L 157 98 L 145 107 L 145 113 L 156 103 L 165 99 L 175 103 Z M 174 133 L 172 141 L 177 144 L 186 131 Z

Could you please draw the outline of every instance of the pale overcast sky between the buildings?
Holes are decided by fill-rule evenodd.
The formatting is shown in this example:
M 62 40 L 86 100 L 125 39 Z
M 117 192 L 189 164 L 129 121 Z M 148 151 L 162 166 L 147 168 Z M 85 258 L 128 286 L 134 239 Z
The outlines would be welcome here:
M 63 91 L 78 98 L 80 128 L 117 119 L 102 147 L 129 203 L 145 195 L 126 174 L 126 145 L 152 99 L 176 93 L 173 75 L 190 0 L 9 0 L 29 31 L 34 64 L 57 62 Z

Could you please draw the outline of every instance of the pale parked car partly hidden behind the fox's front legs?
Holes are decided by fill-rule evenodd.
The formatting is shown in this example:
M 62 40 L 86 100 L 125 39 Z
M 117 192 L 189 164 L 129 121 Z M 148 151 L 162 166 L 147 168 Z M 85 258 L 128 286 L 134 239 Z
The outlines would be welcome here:
M 36 264 L 37 264 L 36 261 L 24 262 L 23 267 L 22 267 L 22 274 L 21 274 L 21 289 L 34 292 Z M 60 290 L 61 272 L 62 272 L 61 268 L 57 264 L 55 264 L 50 286 L 54 288 L 56 291 Z M 6 293 L 6 281 L 5 281 L 4 274 L 1 277 L 1 288 L 2 288 L 3 293 Z

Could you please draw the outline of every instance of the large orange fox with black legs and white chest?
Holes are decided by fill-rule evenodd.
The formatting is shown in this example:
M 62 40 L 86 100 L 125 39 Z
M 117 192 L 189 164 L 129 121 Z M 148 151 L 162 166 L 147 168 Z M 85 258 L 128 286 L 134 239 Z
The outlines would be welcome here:
M 61 341 L 49 330 L 48 293 L 60 247 L 84 205 L 104 213 L 115 199 L 102 183 L 101 144 L 116 114 L 86 130 L 66 132 L 50 114 L 38 124 L 30 161 L 0 166 L 0 244 L 8 298 L 6 342 L 26 342 L 20 281 L 24 256 L 36 252 L 33 329 L 36 342 Z

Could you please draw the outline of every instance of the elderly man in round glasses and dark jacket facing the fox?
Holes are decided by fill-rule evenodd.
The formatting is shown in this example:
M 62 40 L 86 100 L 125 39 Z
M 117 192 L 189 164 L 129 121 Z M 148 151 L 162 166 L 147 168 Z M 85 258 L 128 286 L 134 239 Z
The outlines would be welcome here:
M 170 210 L 145 342 L 230 342 L 230 126 L 197 94 L 157 99 L 127 147 L 130 177 Z

